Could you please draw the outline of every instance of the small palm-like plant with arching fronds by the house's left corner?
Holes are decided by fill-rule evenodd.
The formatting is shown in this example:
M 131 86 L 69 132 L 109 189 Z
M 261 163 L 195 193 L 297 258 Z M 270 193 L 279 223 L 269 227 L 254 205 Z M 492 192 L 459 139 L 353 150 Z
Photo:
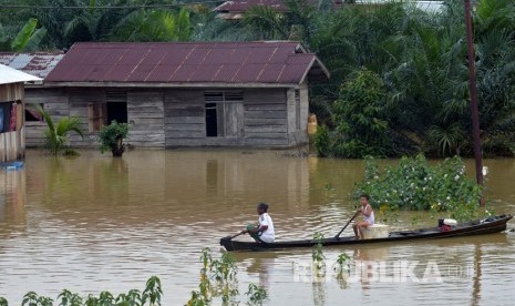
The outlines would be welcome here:
M 43 110 L 40 105 L 37 105 L 35 109 L 47 123 L 47 129 L 43 131 L 44 146 L 53 155 L 58 155 L 58 153 L 64 149 L 71 132 L 75 132 L 81 137 L 84 137 L 78 118 L 63 118 L 55 125 L 49 112 Z M 70 149 L 68 149 L 66 152 L 70 152 Z

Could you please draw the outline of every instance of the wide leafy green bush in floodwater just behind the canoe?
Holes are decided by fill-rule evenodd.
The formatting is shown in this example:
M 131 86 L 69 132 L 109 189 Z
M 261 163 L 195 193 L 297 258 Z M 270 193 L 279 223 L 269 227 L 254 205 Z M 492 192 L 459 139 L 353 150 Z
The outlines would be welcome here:
M 380 171 L 373 159 L 365 159 L 362 182 L 354 186 L 353 197 L 369 194 L 375 208 L 419 210 L 471 220 L 478 213 L 482 187 L 465 175 L 460 157 L 446 159 L 431 166 L 421 154 L 402 157 L 396 166 Z

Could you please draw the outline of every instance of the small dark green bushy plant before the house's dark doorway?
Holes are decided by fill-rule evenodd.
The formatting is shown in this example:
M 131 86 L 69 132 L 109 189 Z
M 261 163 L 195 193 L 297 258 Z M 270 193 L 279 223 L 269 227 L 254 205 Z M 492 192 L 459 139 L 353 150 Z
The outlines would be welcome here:
M 122 156 L 125 152 L 123 140 L 128 135 L 128 124 L 113 120 L 109 125 L 102 125 L 99 131 L 100 151 L 111 151 L 113 156 Z

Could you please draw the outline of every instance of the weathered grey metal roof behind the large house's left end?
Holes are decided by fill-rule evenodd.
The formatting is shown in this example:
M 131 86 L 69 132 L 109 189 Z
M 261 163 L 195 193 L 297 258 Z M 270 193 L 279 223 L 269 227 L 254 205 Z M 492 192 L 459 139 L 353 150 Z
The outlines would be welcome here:
M 64 57 L 64 53 L 3 53 L 0 52 L 0 64 L 23 71 L 38 78 L 47 78 L 52 69 Z

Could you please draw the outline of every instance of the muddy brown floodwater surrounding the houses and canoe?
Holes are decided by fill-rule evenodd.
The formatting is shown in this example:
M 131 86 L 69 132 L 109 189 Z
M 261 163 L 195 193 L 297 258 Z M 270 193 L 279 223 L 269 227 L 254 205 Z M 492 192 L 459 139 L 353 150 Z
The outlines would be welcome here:
M 255 222 L 258 202 L 270 204 L 278 239 L 331 236 L 352 216 L 348 194 L 363 174 L 361 161 L 280 151 L 81 153 L 29 151 L 24 169 L 0 170 L 0 296 L 9 305 L 30 290 L 56 298 L 63 288 L 83 296 L 143 289 L 152 275 L 162 279 L 163 305 L 184 305 L 198 289 L 200 251 L 219 256 L 219 238 Z M 484 163 L 495 212 L 513 214 L 515 160 Z M 395 226 L 434 223 L 420 216 L 413 225 L 403 214 Z M 354 264 L 337 279 L 342 253 Z M 268 290 L 265 305 L 513 305 L 515 233 L 325 254 L 325 277 L 312 277 L 311 249 L 236 253 L 241 304 L 255 283 Z

